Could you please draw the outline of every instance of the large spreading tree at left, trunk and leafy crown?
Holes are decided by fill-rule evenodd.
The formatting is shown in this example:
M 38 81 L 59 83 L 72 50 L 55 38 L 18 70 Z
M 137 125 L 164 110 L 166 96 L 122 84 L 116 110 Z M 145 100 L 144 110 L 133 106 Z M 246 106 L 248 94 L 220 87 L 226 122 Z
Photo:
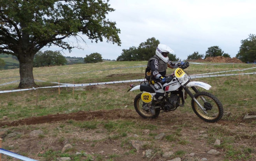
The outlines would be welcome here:
M 35 86 L 33 59 L 44 46 L 71 51 L 79 44 L 64 39 L 75 37 L 120 46 L 116 22 L 106 19 L 114 11 L 109 0 L 0 0 L 0 53 L 17 56 L 20 62 L 20 88 Z M 84 41 L 85 42 L 85 41 Z

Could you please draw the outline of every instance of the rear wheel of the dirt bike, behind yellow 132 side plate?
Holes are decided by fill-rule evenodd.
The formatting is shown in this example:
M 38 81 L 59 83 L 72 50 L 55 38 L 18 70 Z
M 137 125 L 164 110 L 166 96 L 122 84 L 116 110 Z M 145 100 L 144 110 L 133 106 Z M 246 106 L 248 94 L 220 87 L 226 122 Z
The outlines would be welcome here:
M 151 102 L 149 103 L 143 102 L 140 98 L 141 94 L 142 93 L 136 95 L 133 102 L 136 112 L 143 118 L 157 118 L 160 113 L 159 108 L 156 109 L 155 115 L 151 114 L 149 111 L 149 107 L 151 107 Z

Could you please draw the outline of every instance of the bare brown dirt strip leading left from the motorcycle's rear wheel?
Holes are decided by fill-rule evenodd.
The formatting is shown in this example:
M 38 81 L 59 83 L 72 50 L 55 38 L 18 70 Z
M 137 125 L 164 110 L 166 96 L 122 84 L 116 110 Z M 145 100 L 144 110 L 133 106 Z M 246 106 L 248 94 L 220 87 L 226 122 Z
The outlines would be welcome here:
M 56 115 L 45 115 L 38 117 L 29 117 L 21 120 L 15 120 L 10 122 L 0 122 L 2 126 L 18 126 L 18 125 L 32 125 L 40 123 L 52 123 L 57 121 L 75 120 L 75 121 L 86 121 L 92 119 L 106 119 L 114 120 L 117 118 L 138 118 L 134 115 L 134 111 L 131 109 L 112 109 L 112 110 L 99 110 L 99 111 L 78 111 L 70 114 L 56 114 Z

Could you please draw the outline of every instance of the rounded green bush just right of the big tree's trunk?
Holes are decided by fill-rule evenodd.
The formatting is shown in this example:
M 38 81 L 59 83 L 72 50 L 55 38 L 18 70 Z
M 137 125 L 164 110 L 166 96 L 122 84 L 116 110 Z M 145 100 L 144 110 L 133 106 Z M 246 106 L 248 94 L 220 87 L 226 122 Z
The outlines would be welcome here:
M 61 55 L 60 51 L 46 50 L 43 52 L 39 51 L 35 55 L 34 67 L 44 67 L 44 66 L 60 66 L 66 65 L 66 58 Z

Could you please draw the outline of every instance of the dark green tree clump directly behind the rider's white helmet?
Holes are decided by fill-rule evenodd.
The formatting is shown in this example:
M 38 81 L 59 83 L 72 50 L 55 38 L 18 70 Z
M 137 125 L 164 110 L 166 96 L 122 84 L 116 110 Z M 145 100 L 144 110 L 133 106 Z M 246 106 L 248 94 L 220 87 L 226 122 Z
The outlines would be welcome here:
M 138 47 L 132 46 L 129 49 L 123 49 L 117 61 L 147 61 L 156 54 L 156 47 L 160 41 L 152 37 L 147 41 L 140 43 Z M 178 61 L 175 54 L 168 54 L 169 60 Z

